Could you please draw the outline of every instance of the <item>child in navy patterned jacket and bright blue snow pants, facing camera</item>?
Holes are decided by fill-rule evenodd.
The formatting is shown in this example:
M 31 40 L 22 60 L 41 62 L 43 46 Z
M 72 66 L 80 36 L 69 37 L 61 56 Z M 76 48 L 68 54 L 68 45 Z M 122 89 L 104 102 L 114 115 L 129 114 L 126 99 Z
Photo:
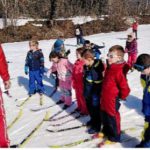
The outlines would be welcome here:
M 25 74 L 27 75 L 29 73 L 29 96 L 32 96 L 36 92 L 42 95 L 45 91 L 42 82 L 44 56 L 42 50 L 38 48 L 38 45 L 38 41 L 30 41 L 30 51 L 26 56 Z

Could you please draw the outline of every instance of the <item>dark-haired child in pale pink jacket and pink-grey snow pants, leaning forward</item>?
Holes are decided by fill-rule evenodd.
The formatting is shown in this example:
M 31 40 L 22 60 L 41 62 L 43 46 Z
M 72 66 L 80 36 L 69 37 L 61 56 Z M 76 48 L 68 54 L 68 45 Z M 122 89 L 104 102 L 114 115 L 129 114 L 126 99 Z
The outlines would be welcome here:
M 68 59 L 62 58 L 60 53 L 55 51 L 50 53 L 49 59 L 53 62 L 53 66 L 49 69 L 48 74 L 57 71 L 59 87 L 62 93 L 60 103 L 64 102 L 64 108 L 67 108 L 72 103 L 71 78 L 73 65 Z

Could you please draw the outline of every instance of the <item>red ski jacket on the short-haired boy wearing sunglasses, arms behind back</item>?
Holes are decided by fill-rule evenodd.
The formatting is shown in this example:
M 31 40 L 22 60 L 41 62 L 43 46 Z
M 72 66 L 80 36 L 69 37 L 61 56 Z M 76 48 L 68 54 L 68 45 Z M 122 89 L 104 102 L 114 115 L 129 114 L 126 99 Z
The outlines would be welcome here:
M 101 91 L 101 110 L 111 116 L 116 115 L 117 99 L 125 100 L 129 95 L 130 88 L 126 74 L 129 70 L 127 63 L 112 64 L 106 69 Z

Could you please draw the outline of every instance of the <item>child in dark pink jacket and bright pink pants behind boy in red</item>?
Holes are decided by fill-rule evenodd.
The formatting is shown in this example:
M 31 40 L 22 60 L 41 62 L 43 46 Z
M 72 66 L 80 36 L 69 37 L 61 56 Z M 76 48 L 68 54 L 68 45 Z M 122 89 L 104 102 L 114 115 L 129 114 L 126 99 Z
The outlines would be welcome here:
M 137 58 L 137 41 L 133 33 L 128 34 L 125 52 L 128 53 L 128 64 L 132 68 Z

